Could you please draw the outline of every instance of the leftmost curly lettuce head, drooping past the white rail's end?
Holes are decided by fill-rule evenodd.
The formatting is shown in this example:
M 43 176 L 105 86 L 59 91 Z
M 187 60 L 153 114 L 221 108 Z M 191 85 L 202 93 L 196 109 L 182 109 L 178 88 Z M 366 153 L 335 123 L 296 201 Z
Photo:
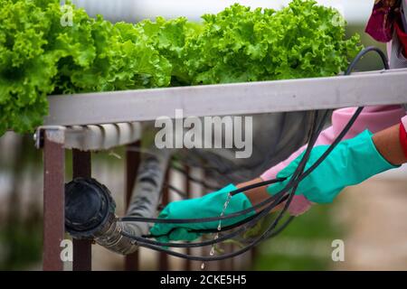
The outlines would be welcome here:
M 57 57 L 46 52 L 51 19 L 33 1 L 0 3 L 0 135 L 42 124 Z

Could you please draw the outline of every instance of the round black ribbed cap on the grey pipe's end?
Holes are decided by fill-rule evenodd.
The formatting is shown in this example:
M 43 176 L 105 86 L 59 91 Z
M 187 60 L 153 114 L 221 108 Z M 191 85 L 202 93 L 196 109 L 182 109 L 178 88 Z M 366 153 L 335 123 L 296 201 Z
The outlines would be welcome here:
M 69 232 L 98 228 L 109 214 L 110 192 L 95 179 L 76 178 L 65 184 L 65 227 Z

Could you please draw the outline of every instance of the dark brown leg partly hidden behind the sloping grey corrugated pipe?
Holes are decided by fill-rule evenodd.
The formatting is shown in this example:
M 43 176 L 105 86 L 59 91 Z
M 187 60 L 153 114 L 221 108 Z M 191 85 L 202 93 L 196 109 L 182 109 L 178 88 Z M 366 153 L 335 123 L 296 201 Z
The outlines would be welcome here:
M 140 163 L 140 153 L 137 151 L 140 143 L 129 144 L 126 152 L 126 208 L 131 200 L 134 184 L 136 182 L 138 164 Z M 125 257 L 125 270 L 137 271 L 138 266 L 138 251 Z

